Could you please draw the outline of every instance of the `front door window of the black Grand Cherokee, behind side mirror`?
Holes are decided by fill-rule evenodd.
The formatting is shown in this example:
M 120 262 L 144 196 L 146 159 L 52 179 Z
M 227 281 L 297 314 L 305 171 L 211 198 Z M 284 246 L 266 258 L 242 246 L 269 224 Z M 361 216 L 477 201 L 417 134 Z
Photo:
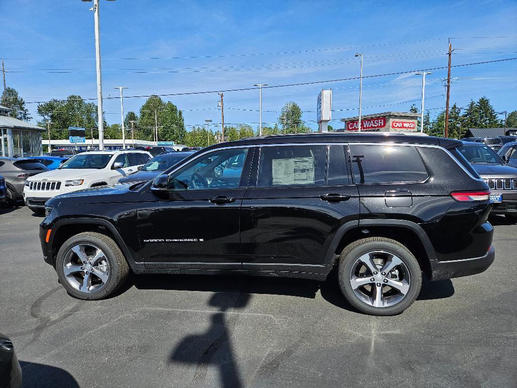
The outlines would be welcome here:
M 248 148 L 217 150 L 192 160 L 171 175 L 170 191 L 239 187 Z

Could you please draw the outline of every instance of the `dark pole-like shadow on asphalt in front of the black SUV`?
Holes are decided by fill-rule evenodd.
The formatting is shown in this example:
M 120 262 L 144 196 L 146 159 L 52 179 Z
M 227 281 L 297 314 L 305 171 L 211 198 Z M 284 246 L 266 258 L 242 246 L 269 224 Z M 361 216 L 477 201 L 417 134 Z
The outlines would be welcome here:
M 248 290 L 247 286 L 246 289 Z M 245 308 L 249 300 L 250 294 L 247 291 L 240 292 L 237 298 L 224 292 L 216 292 L 212 295 L 209 305 L 218 307 L 219 311 L 212 314 L 208 330 L 185 337 L 170 353 L 170 364 L 195 365 L 192 386 L 208 385 L 205 380 L 210 365 L 218 367 L 221 386 L 243 386 L 231 341 L 239 315 L 231 313 Z

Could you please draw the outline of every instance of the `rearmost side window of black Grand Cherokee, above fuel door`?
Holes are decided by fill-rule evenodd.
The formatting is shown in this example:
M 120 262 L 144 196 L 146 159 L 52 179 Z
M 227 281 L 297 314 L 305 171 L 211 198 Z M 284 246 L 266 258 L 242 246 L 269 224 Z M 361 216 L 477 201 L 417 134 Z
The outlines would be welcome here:
M 429 177 L 415 147 L 385 144 L 349 147 L 356 184 L 422 182 Z

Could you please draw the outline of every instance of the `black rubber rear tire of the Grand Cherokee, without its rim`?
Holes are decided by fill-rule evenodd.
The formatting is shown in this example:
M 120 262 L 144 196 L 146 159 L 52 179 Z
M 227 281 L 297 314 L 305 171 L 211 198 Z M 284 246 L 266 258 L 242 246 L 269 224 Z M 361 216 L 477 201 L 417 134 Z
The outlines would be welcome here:
M 374 307 L 363 302 L 355 294 L 351 286 L 352 266 L 365 253 L 385 251 L 396 255 L 402 260 L 409 271 L 409 289 L 402 300 L 387 307 Z M 338 280 L 341 292 L 353 307 L 370 315 L 390 316 L 397 315 L 413 304 L 422 287 L 422 271 L 417 259 L 405 246 L 391 238 L 369 237 L 358 240 L 346 246 L 339 257 Z

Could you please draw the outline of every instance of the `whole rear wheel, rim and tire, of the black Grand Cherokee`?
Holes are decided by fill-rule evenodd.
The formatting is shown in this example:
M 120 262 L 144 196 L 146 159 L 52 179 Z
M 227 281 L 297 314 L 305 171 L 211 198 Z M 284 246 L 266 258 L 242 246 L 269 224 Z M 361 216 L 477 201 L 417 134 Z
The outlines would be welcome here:
M 371 315 L 396 315 L 413 304 L 422 286 L 415 256 L 385 237 L 358 240 L 339 258 L 339 285 L 346 300 Z

